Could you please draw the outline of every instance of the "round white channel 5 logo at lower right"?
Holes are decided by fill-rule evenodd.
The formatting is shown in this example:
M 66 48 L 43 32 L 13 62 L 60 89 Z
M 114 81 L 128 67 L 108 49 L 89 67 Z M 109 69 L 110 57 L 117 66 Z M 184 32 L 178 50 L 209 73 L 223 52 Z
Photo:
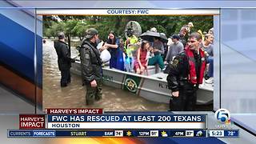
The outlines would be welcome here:
M 218 122 L 221 122 L 222 124 L 230 124 L 230 111 L 226 109 L 218 109 L 214 117 L 218 120 Z

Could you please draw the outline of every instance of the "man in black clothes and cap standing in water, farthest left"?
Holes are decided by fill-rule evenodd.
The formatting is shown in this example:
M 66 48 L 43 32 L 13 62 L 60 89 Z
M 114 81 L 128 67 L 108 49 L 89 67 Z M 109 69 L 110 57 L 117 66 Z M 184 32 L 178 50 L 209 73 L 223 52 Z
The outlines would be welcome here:
M 74 59 L 70 58 L 70 49 L 65 42 L 65 34 L 63 32 L 58 33 L 58 40 L 54 41 L 54 49 L 58 55 L 58 70 L 61 71 L 62 75 L 61 87 L 65 87 L 71 82 L 70 67 Z

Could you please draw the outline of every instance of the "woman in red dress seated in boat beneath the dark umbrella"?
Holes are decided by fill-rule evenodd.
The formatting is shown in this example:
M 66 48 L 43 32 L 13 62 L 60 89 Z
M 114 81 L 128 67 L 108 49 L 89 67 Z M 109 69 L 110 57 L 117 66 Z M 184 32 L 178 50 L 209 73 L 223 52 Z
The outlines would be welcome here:
M 143 41 L 140 48 L 137 51 L 137 58 L 134 61 L 134 70 L 136 74 L 147 73 L 148 59 L 150 55 L 150 43 Z

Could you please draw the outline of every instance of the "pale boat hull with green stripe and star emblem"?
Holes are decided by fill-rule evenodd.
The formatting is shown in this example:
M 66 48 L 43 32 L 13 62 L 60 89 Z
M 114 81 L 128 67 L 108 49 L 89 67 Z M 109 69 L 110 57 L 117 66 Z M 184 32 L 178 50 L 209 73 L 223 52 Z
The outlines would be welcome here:
M 72 64 L 71 72 L 81 75 L 79 62 Z M 103 84 L 118 89 L 129 91 L 131 94 L 141 96 L 153 102 L 170 102 L 170 92 L 166 82 L 166 74 L 154 74 L 150 76 L 133 74 L 121 70 L 102 68 Z M 199 89 L 198 104 L 213 102 L 213 90 Z

